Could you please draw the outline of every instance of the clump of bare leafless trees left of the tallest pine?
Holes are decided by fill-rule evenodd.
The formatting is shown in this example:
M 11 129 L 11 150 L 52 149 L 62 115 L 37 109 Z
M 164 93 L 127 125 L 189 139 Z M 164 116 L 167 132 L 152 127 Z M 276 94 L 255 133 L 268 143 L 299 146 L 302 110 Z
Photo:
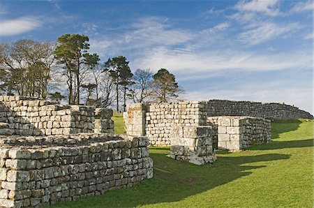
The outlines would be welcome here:
M 6 73 L 7 94 L 46 98 L 54 64 L 54 44 L 33 40 L 1 43 L 1 71 Z M 3 80 L 2 80 L 3 82 Z

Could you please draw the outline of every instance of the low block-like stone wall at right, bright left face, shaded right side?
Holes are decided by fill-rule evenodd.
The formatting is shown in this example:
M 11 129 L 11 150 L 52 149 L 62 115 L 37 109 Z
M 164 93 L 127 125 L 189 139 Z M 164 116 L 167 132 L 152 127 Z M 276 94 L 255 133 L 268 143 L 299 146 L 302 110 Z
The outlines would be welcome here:
M 239 151 L 269 143 L 270 120 L 256 117 L 218 117 L 218 149 Z

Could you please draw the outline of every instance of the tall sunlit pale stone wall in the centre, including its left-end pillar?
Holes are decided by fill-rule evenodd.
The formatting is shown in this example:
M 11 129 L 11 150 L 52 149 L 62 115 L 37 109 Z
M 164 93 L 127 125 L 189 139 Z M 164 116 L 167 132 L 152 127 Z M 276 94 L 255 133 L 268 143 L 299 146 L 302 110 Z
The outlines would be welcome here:
M 129 135 L 147 135 L 151 144 L 170 145 L 174 126 L 199 126 L 200 102 L 130 104 L 124 113 L 126 132 Z

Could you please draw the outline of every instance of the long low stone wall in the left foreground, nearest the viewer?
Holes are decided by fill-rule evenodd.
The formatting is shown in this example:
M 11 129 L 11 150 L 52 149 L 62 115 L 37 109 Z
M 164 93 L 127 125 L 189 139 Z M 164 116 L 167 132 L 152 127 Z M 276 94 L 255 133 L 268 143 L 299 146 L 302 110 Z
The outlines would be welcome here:
M 144 137 L 0 136 L 0 142 L 1 207 L 78 200 L 153 176 Z

